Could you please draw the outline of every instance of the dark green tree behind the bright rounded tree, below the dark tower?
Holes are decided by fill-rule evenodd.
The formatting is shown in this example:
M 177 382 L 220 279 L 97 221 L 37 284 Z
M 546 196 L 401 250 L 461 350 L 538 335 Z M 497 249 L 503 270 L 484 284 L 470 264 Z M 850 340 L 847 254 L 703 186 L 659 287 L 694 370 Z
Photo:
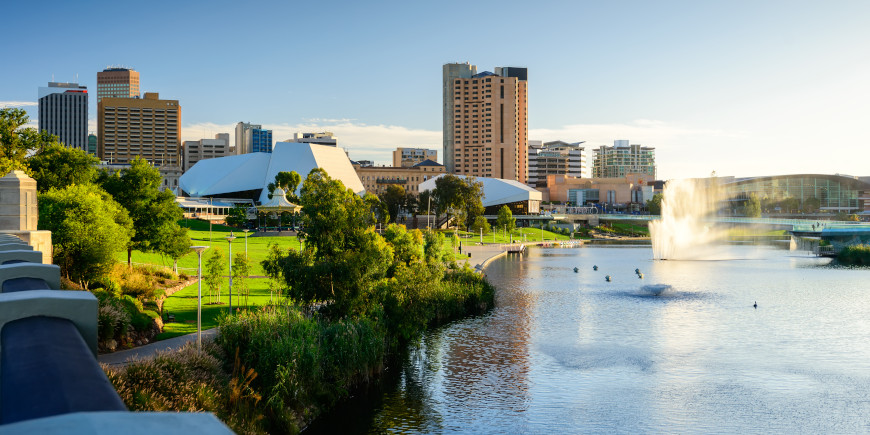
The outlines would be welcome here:
M 97 163 L 96 157 L 57 143 L 43 147 L 27 161 L 40 192 L 91 183 L 97 176 Z

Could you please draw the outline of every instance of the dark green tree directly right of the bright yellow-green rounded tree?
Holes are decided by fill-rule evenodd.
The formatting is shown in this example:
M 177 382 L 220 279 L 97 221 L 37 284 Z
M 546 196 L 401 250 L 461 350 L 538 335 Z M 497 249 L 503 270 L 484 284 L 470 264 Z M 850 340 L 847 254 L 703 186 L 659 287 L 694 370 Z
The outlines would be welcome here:
M 175 195 L 160 190 L 160 171 L 148 161 L 136 157 L 130 168 L 112 173 L 102 172 L 99 183 L 118 201 L 133 220 L 136 233 L 127 246 L 127 264 L 132 264 L 133 250 L 152 252 L 182 217 Z

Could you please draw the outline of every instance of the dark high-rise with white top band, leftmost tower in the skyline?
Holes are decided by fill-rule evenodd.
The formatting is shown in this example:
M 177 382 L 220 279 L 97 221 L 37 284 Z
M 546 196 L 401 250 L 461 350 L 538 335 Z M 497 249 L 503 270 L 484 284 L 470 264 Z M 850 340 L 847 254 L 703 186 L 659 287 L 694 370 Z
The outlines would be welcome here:
M 49 82 L 39 88 L 39 130 L 56 135 L 70 148 L 88 149 L 88 88 Z

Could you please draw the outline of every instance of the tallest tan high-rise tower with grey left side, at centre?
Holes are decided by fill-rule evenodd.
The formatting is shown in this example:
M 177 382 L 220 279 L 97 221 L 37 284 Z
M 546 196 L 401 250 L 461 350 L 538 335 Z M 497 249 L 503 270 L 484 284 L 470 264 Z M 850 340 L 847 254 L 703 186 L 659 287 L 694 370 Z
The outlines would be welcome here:
M 445 166 L 454 174 L 525 183 L 528 70 L 498 67 L 495 73 L 473 74 L 476 69 L 468 64 L 444 65 Z

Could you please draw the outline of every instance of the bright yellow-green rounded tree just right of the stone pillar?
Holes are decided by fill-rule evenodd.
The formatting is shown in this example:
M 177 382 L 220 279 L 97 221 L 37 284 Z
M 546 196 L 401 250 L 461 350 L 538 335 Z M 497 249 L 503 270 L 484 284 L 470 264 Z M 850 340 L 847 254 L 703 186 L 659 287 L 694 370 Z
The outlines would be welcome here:
M 133 234 L 127 211 L 94 185 L 39 194 L 40 230 L 52 232 L 54 262 L 84 288 L 103 276 Z

